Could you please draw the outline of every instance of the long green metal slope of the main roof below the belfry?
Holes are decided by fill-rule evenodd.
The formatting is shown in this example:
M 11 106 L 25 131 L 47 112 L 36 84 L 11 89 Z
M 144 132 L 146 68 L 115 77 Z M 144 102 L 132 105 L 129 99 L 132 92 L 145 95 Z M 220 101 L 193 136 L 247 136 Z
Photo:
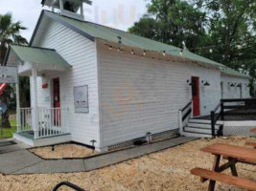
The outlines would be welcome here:
M 58 22 L 68 25 L 68 27 L 80 30 L 81 32 L 85 32 L 89 36 L 92 36 L 94 38 L 104 39 L 109 42 L 118 43 L 119 39 L 118 36 L 120 36 L 122 39 L 122 45 L 128 46 L 128 47 L 134 47 L 139 48 L 146 51 L 153 51 L 153 52 L 166 52 L 171 55 L 180 56 L 180 48 L 176 48 L 172 45 L 167 45 L 161 42 L 157 42 L 154 40 L 151 40 L 149 38 L 145 38 L 133 33 L 129 32 L 123 32 L 120 30 L 116 30 L 113 28 L 105 27 L 102 25 L 98 25 L 95 23 L 87 22 L 87 21 L 80 21 L 77 19 L 72 19 L 51 11 L 45 11 L 45 13 L 54 18 L 57 19 Z M 223 66 L 218 62 L 215 62 L 213 60 L 207 59 L 203 56 L 200 56 L 196 53 L 190 53 L 189 51 L 184 51 L 182 53 L 183 58 L 193 59 L 200 62 L 204 62 L 213 66 Z

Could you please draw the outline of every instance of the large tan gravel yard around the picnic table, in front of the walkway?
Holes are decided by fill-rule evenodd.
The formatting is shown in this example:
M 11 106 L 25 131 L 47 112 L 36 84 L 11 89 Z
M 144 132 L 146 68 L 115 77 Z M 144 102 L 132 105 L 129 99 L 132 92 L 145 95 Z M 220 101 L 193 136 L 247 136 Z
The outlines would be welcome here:
M 131 159 L 87 173 L 0 175 L 0 190 L 50 191 L 59 181 L 68 180 L 91 191 L 205 191 L 207 182 L 200 183 L 198 177 L 190 175 L 190 170 L 194 167 L 211 169 L 214 158 L 212 155 L 199 151 L 199 149 L 216 142 L 244 145 L 245 141 L 256 141 L 256 138 L 202 138 L 139 159 Z M 237 169 L 240 177 L 256 180 L 256 166 L 238 164 Z M 230 174 L 229 170 L 225 173 Z M 68 191 L 69 189 L 63 188 L 62 190 Z M 217 183 L 216 190 L 241 191 L 242 189 Z

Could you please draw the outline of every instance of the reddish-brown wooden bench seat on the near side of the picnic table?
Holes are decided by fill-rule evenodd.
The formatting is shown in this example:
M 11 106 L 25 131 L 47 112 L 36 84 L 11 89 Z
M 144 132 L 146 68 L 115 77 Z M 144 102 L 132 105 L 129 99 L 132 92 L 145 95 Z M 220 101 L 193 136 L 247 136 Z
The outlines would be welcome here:
M 237 186 L 239 188 L 256 191 L 256 181 L 253 181 L 253 180 L 247 180 L 244 178 L 229 176 L 229 175 L 214 172 L 211 170 L 205 170 L 202 168 L 192 169 L 191 174 L 198 176 L 203 180 L 216 180 L 221 183 Z M 209 191 L 213 191 L 213 190 L 209 190 Z

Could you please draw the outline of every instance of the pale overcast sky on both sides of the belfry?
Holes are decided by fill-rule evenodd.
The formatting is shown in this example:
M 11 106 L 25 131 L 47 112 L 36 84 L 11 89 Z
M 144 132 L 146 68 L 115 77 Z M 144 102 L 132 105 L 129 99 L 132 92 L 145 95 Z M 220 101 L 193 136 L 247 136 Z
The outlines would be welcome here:
M 127 31 L 146 12 L 145 0 L 92 0 L 85 6 L 85 19 Z M 14 21 L 20 20 L 27 31 L 22 35 L 30 40 L 42 10 L 41 0 L 0 0 L 0 13 L 12 12 Z

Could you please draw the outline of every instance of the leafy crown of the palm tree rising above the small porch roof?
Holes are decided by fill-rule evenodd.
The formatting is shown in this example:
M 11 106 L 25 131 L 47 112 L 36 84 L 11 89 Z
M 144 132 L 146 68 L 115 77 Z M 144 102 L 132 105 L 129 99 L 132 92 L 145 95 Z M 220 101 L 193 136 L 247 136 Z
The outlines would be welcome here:
M 28 44 L 26 38 L 20 35 L 22 30 L 27 30 L 21 22 L 12 22 L 12 13 L 0 14 L 0 63 L 4 64 L 4 58 L 11 43 Z

